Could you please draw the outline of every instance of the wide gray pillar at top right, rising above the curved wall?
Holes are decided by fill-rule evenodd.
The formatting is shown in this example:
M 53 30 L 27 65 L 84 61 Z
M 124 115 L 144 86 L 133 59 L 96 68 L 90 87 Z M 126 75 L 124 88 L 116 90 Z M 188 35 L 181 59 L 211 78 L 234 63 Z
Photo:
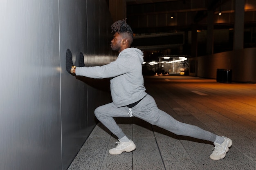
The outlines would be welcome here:
M 244 48 L 244 22 L 245 0 L 236 0 L 233 50 Z

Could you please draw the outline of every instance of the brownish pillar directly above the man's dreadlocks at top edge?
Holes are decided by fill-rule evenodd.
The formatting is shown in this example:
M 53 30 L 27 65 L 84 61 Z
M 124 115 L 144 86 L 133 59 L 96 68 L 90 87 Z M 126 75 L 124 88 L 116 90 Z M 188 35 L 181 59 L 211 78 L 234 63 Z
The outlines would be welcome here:
M 126 18 L 126 0 L 109 0 L 109 11 L 113 22 Z

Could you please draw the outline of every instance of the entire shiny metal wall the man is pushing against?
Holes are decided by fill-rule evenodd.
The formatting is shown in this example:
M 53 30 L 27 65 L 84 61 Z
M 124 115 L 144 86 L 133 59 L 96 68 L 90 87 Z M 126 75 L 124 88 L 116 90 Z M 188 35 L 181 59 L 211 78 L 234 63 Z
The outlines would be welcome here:
M 0 170 L 65 170 L 111 101 L 108 79 L 65 70 L 67 48 L 75 65 L 115 60 L 106 1 L 1 0 L 0 23 Z

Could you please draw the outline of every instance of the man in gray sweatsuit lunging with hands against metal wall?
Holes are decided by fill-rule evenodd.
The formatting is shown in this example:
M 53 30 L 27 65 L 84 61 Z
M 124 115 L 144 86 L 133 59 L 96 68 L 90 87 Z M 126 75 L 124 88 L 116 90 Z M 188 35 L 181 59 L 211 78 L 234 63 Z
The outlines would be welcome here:
M 164 128 L 176 135 L 183 135 L 214 142 L 214 150 L 210 155 L 213 160 L 223 159 L 232 145 L 231 139 L 220 137 L 197 126 L 184 124 L 157 108 L 155 100 L 147 94 L 142 75 L 143 53 L 131 48 L 133 33 L 126 20 L 112 24 L 115 34 L 111 40 L 112 50 L 118 51 L 117 60 L 104 66 L 83 67 L 73 66 L 72 53 L 67 49 L 66 67 L 72 74 L 91 78 L 111 78 L 110 90 L 112 103 L 99 106 L 95 116 L 119 139 L 117 147 L 110 149 L 112 155 L 131 152 L 136 146 L 128 139 L 113 117 L 138 117 L 150 124 Z M 83 55 L 81 54 L 83 61 Z

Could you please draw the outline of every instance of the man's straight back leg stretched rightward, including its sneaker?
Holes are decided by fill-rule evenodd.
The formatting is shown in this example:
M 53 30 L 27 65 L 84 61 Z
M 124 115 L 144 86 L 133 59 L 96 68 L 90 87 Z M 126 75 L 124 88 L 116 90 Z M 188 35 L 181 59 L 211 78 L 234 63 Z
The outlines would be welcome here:
M 198 126 L 177 121 L 164 111 L 160 110 L 157 107 L 155 100 L 150 95 L 147 95 L 142 99 L 139 104 L 132 108 L 132 110 L 135 117 L 164 128 L 176 135 L 189 136 L 214 142 L 216 147 L 215 151 L 210 156 L 211 159 L 218 160 L 224 158 L 226 152 L 229 150 L 228 147 L 232 145 L 231 139 L 227 137 L 220 137 L 207 130 L 199 128 Z

